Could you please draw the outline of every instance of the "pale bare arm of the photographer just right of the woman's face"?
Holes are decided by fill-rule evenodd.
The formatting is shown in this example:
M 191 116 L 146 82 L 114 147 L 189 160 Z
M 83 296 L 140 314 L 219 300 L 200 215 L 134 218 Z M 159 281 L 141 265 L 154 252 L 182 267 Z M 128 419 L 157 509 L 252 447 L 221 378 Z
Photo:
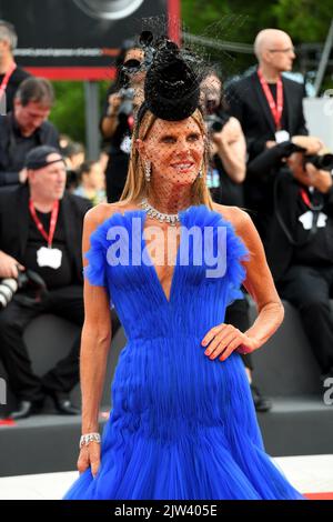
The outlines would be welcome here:
M 222 131 L 213 134 L 213 142 L 228 175 L 242 183 L 246 172 L 246 143 L 239 120 L 230 118 Z

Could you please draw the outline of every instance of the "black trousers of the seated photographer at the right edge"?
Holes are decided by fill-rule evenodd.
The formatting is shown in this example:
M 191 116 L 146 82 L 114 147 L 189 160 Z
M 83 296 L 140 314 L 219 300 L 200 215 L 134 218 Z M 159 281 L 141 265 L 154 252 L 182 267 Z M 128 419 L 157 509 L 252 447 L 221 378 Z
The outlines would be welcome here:
M 276 288 L 280 295 L 300 311 L 305 334 L 322 373 L 332 371 L 333 319 L 330 295 L 333 291 L 333 265 L 293 265 Z

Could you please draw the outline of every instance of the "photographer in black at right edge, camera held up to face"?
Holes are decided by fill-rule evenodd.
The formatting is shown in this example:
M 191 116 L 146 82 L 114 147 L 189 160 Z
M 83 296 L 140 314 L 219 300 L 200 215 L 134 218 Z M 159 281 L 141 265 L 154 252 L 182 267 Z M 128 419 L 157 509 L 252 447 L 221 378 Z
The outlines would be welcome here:
M 279 293 L 301 311 L 324 379 L 333 377 L 333 157 L 295 149 L 271 172 L 263 241 Z

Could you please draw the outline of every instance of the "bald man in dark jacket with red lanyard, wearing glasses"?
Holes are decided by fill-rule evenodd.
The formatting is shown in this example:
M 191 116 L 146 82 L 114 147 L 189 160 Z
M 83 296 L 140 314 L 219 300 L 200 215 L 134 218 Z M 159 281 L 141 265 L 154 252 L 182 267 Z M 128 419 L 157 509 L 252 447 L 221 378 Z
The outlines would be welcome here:
M 242 124 L 250 160 L 265 148 L 293 135 L 307 134 L 304 114 L 304 86 L 282 76 L 295 59 L 293 42 L 279 29 L 264 29 L 254 41 L 259 66 L 228 91 L 232 114 Z

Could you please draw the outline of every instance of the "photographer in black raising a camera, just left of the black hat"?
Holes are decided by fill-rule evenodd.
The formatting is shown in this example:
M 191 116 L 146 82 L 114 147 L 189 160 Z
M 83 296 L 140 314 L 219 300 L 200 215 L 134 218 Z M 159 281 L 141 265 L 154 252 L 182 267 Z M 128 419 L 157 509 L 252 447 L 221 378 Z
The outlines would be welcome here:
M 141 90 L 144 72 L 140 66 L 144 51 L 139 46 L 124 49 L 118 58 L 118 76 L 108 91 L 108 100 L 101 120 L 101 132 L 110 141 L 109 162 L 105 171 L 108 201 L 119 201 L 128 175 L 131 134 L 134 126 L 134 98 Z

